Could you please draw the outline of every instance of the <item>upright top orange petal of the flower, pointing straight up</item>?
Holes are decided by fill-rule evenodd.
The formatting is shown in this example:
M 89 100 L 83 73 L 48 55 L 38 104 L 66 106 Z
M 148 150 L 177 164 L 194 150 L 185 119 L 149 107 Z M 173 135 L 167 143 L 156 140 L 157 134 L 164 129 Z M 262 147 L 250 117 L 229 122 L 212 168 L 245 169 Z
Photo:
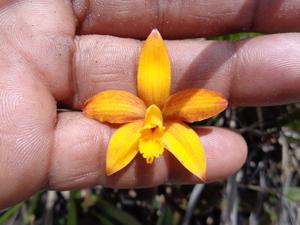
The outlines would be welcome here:
M 137 89 L 138 95 L 147 106 L 161 107 L 170 95 L 171 66 L 162 37 L 154 29 L 141 50 Z

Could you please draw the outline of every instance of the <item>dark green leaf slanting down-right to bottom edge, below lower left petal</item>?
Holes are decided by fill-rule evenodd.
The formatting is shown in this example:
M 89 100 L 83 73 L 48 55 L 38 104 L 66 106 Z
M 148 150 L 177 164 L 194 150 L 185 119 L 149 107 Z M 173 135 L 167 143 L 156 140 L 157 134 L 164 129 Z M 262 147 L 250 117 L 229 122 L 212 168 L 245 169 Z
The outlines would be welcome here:
M 124 212 L 121 209 L 116 208 L 114 205 L 110 204 L 109 202 L 98 199 L 98 207 L 102 210 L 102 212 L 113 220 L 117 221 L 120 224 L 124 225 L 141 225 L 141 223 L 135 219 L 132 215 Z

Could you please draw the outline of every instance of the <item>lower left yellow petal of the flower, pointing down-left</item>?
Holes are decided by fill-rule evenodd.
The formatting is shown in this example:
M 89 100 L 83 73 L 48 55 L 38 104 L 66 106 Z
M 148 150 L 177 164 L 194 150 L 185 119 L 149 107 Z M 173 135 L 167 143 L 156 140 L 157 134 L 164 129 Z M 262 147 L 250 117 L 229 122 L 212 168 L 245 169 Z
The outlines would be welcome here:
M 127 166 L 138 153 L 141 136 L 139 130 L 142 126 L 142 120 L 128 123 L 117 129 L 112 135 L 106 155 L 106 174 L 108 176 Z

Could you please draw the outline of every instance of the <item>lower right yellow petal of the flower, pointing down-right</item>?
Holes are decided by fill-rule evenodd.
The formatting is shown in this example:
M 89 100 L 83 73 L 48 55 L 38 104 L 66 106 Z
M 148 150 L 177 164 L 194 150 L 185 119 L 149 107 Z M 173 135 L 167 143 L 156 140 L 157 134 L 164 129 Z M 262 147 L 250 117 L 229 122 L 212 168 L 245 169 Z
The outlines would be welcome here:
M 200 138 L 195 131 L 180 122 L 169 122 L 161 141 L 192 174 L 205 181 L 206 158 Z

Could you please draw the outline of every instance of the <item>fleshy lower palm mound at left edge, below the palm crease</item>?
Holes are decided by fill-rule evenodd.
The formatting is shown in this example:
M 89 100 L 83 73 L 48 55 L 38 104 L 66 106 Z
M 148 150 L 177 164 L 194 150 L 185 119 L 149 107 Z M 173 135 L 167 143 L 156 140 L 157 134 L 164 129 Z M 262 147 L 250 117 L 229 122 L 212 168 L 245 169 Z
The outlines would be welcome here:
M 30 68 L 1 60 L 0 71 L 1 209 L 46 186 L 56 102 Z

